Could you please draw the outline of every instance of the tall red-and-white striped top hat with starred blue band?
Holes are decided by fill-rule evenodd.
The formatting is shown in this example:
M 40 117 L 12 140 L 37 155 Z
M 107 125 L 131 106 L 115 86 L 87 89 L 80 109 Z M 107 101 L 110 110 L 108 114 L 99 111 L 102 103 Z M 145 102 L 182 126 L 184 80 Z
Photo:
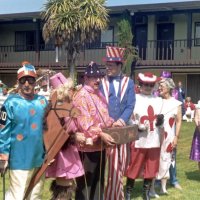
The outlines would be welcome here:
M 105 62 L 124 62 L 125 48 L 106 46 L 106 57 L 103 59 Z

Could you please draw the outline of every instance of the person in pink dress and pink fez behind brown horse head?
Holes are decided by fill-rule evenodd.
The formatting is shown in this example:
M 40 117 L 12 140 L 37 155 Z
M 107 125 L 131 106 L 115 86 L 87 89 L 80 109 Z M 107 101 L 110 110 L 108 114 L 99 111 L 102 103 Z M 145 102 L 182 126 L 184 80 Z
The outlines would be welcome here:
M 53 126 L 51 126 L 51 134 L 55 134 L 52 135 L 52 138 L 57 134 L 52 130 L 59 131 L 60 129 L 65 130 L 69 134 L 69 138 L 66 140 L 65 136 L 68 134 L 63 135 L 59 133 L 65 143 L 60 146 L 54 162 L 46 170 L 46 177 L 55 178 L 50 186 L 50 191 L 52 192 L 51 199 L 71 199 L 76 188 L 74 179 L 84 174 L 82 162 L 73 137 L 75 132 L 77 132 L 76 118 L 72 118 L 73 115 L 70 115 L 71 112 L 73 113 L 72 97 L 74 94 L 74 85 L 72 79 L 65 78 L 62 73 L 52 76 L 50 82 L 54 91 L 50 100 L 52 108 L 47 116 L 47 120 L 49 124 L 55 127 L 53 129 Z M 56 104 L 57 106 L 55 106 L 54 110 L 53 105 Z M 59 109 L 61 110 L 60 114 Z M 70 113 L 68 114 L 64 110 L 70 110 Z M 58 123 L 56 123 L 56 117 L 60 120 Z

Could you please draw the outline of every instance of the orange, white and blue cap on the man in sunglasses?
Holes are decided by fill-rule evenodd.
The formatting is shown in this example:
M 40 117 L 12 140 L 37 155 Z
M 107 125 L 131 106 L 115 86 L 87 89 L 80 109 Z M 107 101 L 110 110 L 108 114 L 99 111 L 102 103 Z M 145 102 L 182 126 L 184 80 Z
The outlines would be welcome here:
M 37 77 L 35 67 L 27 61 L 22 62 L 22 67 L 17 71 L 17 79 L 20 79 L 24 76 L 32 76 L 34 78 Z

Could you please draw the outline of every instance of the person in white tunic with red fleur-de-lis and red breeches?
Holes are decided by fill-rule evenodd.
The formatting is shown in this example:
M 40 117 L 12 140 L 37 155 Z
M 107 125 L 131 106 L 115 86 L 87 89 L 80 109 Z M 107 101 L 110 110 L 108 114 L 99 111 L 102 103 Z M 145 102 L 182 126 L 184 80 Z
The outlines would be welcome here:
M 163 115 L 162 99 L 152 94 L 157 76 L 150 72 L 139 73 L 140 94 L 136 94 L 133 118 L 138 123 L 139 140 L 131 145 L 131 161 L 126 171 L 126 197 L 131 193 L 136 178 L 143 176 L 143 199 L 150 199 L 149 190 L 152 179 L 156 177 L 160 158 L 160 134 Z

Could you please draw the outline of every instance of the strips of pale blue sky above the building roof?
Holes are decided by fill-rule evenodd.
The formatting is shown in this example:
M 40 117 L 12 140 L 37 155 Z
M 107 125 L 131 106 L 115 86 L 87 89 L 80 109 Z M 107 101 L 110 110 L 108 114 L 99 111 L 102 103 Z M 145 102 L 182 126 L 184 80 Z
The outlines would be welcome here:
M 107 6 L 148 3 L 183 2 L 192 0 L 107 0 Z M 43 8 L 46 0 L 0 0 L 0 14 L 35 12 Z

